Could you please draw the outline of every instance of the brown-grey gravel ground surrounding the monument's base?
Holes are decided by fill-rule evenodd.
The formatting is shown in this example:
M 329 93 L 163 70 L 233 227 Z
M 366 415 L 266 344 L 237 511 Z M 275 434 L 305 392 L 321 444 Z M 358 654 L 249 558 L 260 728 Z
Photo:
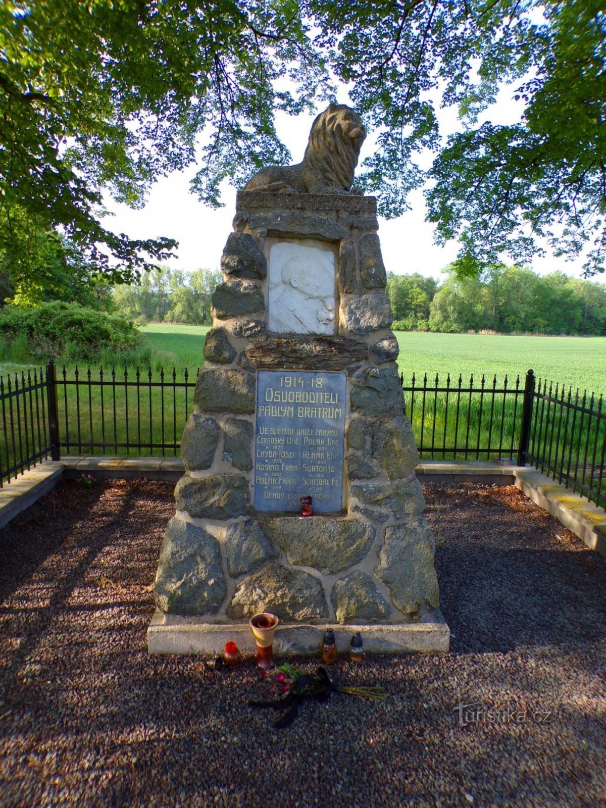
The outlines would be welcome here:
M 0 531 L 2 806 L 606 806 L 606 564 L 515 488 L 425 486 L 452 652 L 340 660 L 385 704 L 282 731 L 252 662 L 147 655 L 173 489 L 61 482 Z

